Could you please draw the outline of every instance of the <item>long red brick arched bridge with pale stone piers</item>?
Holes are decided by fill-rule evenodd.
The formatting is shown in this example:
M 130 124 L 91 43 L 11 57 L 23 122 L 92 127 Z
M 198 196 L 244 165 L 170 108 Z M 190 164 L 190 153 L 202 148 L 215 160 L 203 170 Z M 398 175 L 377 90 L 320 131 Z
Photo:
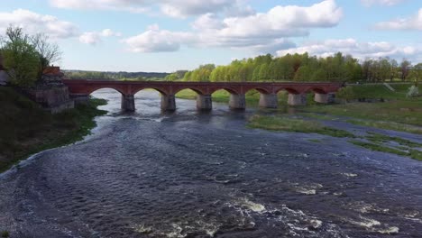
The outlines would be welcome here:
M 64 79 L 69 87 L 70 96 L 75 101 L 87 101 L 89 95 L 101 88 L 113 88 L 122 94 L 122 109 L 134 111 L 134 95 L 142 89 L 152 88 L 161 93 L 161 109 L 176 109 L 175 95 L 183 89 L 197 92 L 197 108 L 212 109 L 212 94 L 224 89 L 230 93 L 229 105 L 232 109 L 244 109 L 245 93 L 256 89 L 261 93 L 260 106 L 276 108 L 277 93 L 286 90 L 289 93 L 289 105 L 305 105 L 307 93 L 314 93 L 314 100 L 326 104 L 330 94 L 335 93 L 340 83 L 306 83 L 306 82 L 170 82 L 170 81 L 114 81 L 100 79 Z

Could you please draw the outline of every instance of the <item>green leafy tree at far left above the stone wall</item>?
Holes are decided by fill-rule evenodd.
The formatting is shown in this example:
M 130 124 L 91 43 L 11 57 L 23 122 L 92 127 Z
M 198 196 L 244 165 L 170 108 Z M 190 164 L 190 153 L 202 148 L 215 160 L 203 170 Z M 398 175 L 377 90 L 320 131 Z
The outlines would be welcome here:
M 22 28 L 8 27 L 6 37 L 2 41 L 1 54 L 11 83 L 19 87 L 32 86 L 37 80 L 41 65 L 39 52 Z

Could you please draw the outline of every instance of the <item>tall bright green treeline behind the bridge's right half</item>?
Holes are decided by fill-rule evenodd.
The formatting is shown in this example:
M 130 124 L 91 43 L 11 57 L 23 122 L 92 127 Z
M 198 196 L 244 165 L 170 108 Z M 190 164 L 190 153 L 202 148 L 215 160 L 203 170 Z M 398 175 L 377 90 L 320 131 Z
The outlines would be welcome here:
M 403 59 L 365 59 L 360 61 L 338 52 L 319 57 L 304 54 L 271 54 L 251 59 L 234 60 L 226 66 L 206 64 L 188 71 L 183 76 L 171 74 L 168 80 L 184 81 L 338 81 L 381 82 L 385 80 L 422 79 L 422 64 L 416 66 Z

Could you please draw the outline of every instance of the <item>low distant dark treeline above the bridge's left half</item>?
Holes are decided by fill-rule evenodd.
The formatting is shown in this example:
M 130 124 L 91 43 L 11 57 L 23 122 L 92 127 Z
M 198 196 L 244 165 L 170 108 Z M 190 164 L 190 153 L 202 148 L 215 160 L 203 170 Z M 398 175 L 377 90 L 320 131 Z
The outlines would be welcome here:
M 62 70 L 65 78 L 101 78 L 110 80 L 162 80 L 169 73 L 151 73 L 151 72 L 102 72 L 102 71 L 84 71 L 84 70 Z

